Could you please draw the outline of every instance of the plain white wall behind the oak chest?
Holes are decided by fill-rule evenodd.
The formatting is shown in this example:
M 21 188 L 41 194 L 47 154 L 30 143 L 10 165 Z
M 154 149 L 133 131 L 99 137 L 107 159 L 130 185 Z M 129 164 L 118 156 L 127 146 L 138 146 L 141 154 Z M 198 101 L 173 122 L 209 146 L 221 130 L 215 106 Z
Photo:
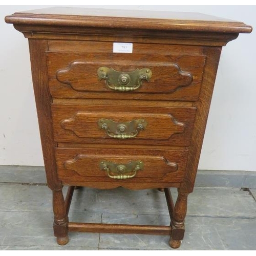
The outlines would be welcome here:
M 47 6 L 0 8 L 0 164 L 44 165 L 32 90 L 28 42 L 4 17 Z M 95 7 L 95 6 L 89 6 Z M 102 7 L 101 7 L 102 8 Z M 201 12 L 254 27 L 223 48 L 200 158 L 200 169 L 256 171 L 256 7 L 104 6 Z

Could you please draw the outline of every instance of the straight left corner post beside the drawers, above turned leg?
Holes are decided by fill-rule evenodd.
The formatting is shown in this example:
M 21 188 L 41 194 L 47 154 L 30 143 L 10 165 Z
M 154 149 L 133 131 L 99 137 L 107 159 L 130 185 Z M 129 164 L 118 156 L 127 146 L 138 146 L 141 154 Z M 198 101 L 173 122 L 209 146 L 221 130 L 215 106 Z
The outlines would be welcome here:
M 29 40 L 29 50 L 47 183 L 51 189 L 59 189 L 62 186 L 57 177 L 55 165 L 55 143 L 53 138 L 53 123 L 51 114 L 52 97 L 48 87 L 46 66 L 46 51 L 48 50 L 48 42 L 47 40 L 31 39 Z

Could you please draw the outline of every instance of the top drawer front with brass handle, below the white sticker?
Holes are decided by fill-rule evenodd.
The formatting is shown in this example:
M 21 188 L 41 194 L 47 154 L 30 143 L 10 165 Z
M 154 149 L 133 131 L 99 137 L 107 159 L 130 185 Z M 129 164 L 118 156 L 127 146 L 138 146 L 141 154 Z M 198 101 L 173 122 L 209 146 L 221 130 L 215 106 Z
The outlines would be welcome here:
M 60 98 L 196 100 L 204 63 L 205 56 L 93 54 L 92 58 L 48 53 L 49 85 L 52 96 Z

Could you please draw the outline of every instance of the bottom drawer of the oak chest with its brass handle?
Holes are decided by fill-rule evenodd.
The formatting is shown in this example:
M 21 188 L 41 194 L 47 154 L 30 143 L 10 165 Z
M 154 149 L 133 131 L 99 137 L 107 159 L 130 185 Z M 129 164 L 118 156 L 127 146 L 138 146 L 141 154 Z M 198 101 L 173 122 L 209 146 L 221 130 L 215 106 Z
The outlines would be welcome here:
M 183 181 L 187 153 L 187 150 L 56 148 L 57 172 L 67 185 L 165 187 Z

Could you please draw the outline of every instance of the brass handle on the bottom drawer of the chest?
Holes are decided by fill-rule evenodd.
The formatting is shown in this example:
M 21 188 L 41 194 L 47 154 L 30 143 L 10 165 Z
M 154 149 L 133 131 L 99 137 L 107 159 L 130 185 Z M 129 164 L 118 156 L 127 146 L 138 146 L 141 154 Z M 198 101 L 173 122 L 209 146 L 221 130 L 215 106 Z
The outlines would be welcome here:
M 143 170 L 142 161 L 130 161 L 127 164 L 118 164 L 110 161 L 101 161 L 100 169 L 105 170 L 112 179 L 126 180 L 133 178 L 138 170 Z

